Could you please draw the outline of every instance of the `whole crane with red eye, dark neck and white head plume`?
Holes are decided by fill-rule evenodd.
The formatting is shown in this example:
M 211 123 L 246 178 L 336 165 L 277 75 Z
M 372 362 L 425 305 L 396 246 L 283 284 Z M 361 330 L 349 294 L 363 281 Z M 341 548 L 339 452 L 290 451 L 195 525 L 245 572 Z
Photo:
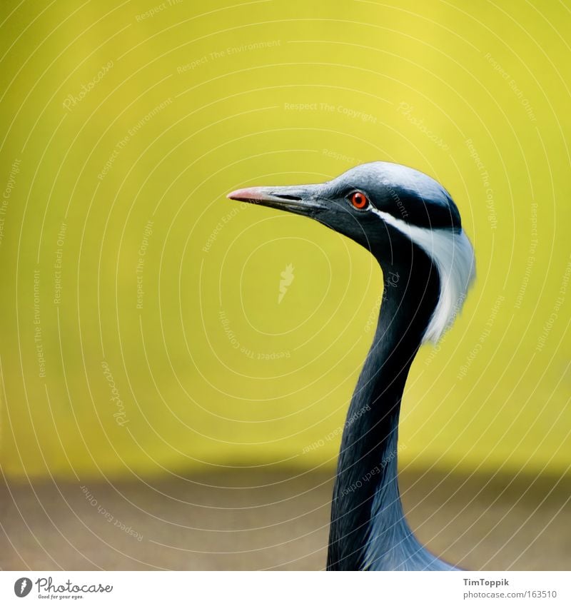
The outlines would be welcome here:
M 375 161 L 309 185 L 243 188 L 233 201 L 318 221 L 366 248 L 383 274 L 368 355 L 343 428 L 326 570 L 460 570 L 424 547 L 398 487 L 398 423 L 410 366 L 438 343 L 475 279 L 475 256 L 450 193 L 402 164 Z

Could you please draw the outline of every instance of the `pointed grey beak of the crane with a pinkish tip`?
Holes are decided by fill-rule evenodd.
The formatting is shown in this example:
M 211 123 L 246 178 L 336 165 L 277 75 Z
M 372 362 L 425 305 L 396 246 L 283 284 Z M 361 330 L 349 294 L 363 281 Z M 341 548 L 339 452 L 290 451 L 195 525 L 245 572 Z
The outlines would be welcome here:
M 319 198 L 318 191 L 318 185 L 248 187 L 228 193 L 227 198 L 315 217 L 328 208 Z

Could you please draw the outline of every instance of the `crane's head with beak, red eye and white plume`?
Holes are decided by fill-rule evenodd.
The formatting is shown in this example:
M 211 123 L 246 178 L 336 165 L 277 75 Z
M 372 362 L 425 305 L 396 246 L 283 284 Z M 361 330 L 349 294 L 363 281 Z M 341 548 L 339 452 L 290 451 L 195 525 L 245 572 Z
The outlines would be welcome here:
M 438 341 L 475 276 L 473 248 L 450 194 L 408 166 L 371 162 L 325 183 L 244 188 L 228 198 L 313 218 L 367 248 L 383 271 L 400 263 L 417 281 L 423 276 L 414 276 L 415 255 L 428 256 L 440 294 L 423 340 Z

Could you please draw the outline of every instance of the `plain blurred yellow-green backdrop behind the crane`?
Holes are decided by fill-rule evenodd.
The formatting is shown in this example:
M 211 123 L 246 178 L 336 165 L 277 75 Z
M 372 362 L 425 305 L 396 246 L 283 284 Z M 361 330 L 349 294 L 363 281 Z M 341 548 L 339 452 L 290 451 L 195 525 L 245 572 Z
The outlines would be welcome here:
M 401 464 L 568 470 L 569 6 L 4 1 L 0 22 L 6 475 L 333 467 L 380 270 L 225 196 L 373 160 L 441 181 L 477 254 L 413 365 Z

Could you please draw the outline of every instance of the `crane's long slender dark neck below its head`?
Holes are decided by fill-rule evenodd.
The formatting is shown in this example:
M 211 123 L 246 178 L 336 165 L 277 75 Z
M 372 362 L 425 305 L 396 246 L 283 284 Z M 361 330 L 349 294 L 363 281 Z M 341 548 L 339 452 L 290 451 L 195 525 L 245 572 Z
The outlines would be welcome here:
M 419 284 L 418 276 L 424 276 Z M 428 279 L 426 278 L 428 276 Z M 438 273 L 423 254 L 383 264 L 383 304 L 350 403 L 331 510 L 329 570 L 407 567 L 420 546 L 398 490 L 398 419 L 410 365 L 438 301 Z

